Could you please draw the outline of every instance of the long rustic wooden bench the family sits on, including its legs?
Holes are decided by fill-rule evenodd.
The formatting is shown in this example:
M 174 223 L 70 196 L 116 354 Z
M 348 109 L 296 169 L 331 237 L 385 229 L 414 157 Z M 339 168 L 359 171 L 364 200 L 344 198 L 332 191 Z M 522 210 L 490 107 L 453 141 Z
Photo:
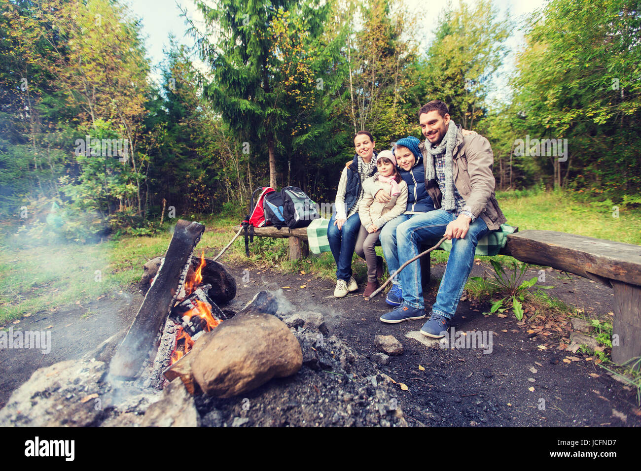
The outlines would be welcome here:
M 234 228 L 238 231 L 240 226 Z M 254 236 L 289 239 L 289 256 L 309 254 L 307 229 L 254 227 Z M 423 250 L 431 245 L 424 245 Z M 641 356 L 641 246 L 556 231 L 525 230 L 508 235 L 499 252 L 513 258 L 563 270 L 614 290 L 612 360 L 624 363 Z M 422 285 L 429 284 L 429 254 L 420 259 Z

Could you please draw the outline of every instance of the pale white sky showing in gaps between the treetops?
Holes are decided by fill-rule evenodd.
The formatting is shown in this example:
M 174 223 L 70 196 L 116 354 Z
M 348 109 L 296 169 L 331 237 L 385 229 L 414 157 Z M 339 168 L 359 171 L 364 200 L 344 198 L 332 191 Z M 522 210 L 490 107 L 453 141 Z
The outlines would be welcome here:
M 192 19 L 199 18 L 192 0 L 178 1 Z M 470 6 L 474 4 L 472 0 L 453 0 L 453 5 L 458 5 L 460 1 L 466 1 Z M 421 46 L 426 49 L 433 38 L 433 28 L 438 13 L 446 3 L 443 0 L 404 0 L 404 2 L 408 7 L 424 12 L 420 15 L 419 34 L 422 38 Z M 529 13 L 541 8 L 544 3 L 545 0 L 494 0 L 494 4 L 499 7 L 501 12 L 499 17 L 504 17 L 509 11 L 510 17 L 515 20 L 523 19 Z M 154 65 L 159 65 L 162 62 L 163 48 L 166 49 L 169 46 L 170 33 L 173 33 L 184 44 L 194 44 L 192 38 L 185 35 L 188 27 L 180 16 L 176 0 L 129 0 L 128 4 L 133 13 L 142 20 L 143 31 L 146 35 L 147 54 Z M 499 76 L 495 78 L 497 90 L 491 95 L 491 98 L 502 99 L 506 97 L 506 76 L 513 69 L 514 53 L 522 48 L 523 41 L 521 31 L 515 29 L 507 43 L 511 53 L 500 70 Z M 158 79 L 158 74 L 154 74 L 154 78 Z

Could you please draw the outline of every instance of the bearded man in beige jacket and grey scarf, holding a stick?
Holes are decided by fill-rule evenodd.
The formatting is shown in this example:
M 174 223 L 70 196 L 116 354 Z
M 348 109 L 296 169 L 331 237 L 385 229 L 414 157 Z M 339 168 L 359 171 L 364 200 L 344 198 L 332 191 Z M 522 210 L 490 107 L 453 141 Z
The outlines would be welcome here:
M 426 137 L 421 144 L 425 179 L 436 179 L 442 193 L 437 210 L 413 217 L 396 228 L 397 253 L 401 263 L 419 254 L 422 242 L 447 236 L 452 249 L 437 300 L 420 333 L 442 338 L 456 313 L 463 287 L 474 263 L 478 241 L 499 229 L 506 219 L 494 195 L 494 154 L 488 140 L 478 134 L 463 135 L 449 116 L 447 105 L 433 100 L 419 110 Z M 426 317 L 419 261 L 398 275 L 403 302 L 381 316 L 382 322 L 397 324 Z

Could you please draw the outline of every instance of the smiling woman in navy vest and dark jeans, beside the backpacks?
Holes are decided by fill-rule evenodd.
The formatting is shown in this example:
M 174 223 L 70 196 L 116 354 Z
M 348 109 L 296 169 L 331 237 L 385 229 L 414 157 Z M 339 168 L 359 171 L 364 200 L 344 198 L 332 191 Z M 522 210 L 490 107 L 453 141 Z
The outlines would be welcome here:
M 329 220 L 327 238 L 331 254 L 336 260 L 336 297 L 345 297 L 347 292 L 358 290 L 352 276 L 352 256 L 356 238 L 361 227 L 358 208 L 363 199 L 362 183 L 376 171 L 374 138 L 367 131 L 358 131 L 354 136 L 354 159 L 340 174 L 336 193 L 335 211 Z

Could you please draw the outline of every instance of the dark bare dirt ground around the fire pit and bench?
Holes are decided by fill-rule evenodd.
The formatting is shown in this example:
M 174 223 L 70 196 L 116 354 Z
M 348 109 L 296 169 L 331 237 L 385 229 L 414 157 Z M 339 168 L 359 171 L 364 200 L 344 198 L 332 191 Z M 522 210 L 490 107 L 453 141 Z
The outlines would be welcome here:
M 223 261 L 224 263 L 224 261 Z M 358 262 L 360 263 L 360 262 Z M 486 269 L 476 265 L 472 276 Z M 565 363 L 572 355 L 553 347 L 560 339 L 540 338 L 517 325 L 510 314 L 485 317 L 488 306 L 474 307 L 462 301 L 453 322 L 456 331 L 492 331 L 492 352 L 483 349 L 426 347 L 406 334 L 419 331 L 424 320 L 383 324 L 379 316 L 391 308 L 384 295 L 365 301 L 365 279 L 360 290 L 343 299 L 333 297 L 335 283 L 319 281 L 309 274 L 281 275 L 269 268 L 229 267 L 238 283 L 237 297 L 227 308 L 240 310 L 259 290 L 281 288 L 301 311 L 318 311 L 326 318 L 329 335 L 337 335 L 358 358 L 374 359 L 376 335 L 394 335 L 404 352 L 391 356 L 378 372 L 397 381 L 399 405 L 410 426 L 640 426 L 636 390 L 615 381 L 594 361 L 576 354 L 579 361 Z M 444 264 L 433 265 L 433 277 L 442 276 Z M 142 269 L 141 269 L 142 271 Z M 528 277 L 535 276 L 533 270 Z M 606 318 L 612 311 L 612 290 L 587 279 L 547 273 L 548 293 L 588 314 Z M 426 297 L 434 301 L 435 286 Z M 37 313 L 13 326 L 24 330 L 51 330 L 51 353 L 37 350 L 0 351 L 0 407 L 10 393 L 38 367 L 65 359 L 80 358 L 109 336 L 127 327 L 140 303 L 137 288 L 113 293 L 88 304 L 60 307 Z M 90 315 L 86 315 L 90 308 Z M 51 327 L 49 327 L 51 326 Z M 487 351 L 487 349 L 486 349 Z M 424 369 L 422 369 L 424 368 Z M 591 376 L 592 375 L 592 376 Z M 282 381 L 282 380 L 281 380 Z M 403 390 L 400 383 L 407 386 Z M 265 384 L 264 387 L 268 387 Z

